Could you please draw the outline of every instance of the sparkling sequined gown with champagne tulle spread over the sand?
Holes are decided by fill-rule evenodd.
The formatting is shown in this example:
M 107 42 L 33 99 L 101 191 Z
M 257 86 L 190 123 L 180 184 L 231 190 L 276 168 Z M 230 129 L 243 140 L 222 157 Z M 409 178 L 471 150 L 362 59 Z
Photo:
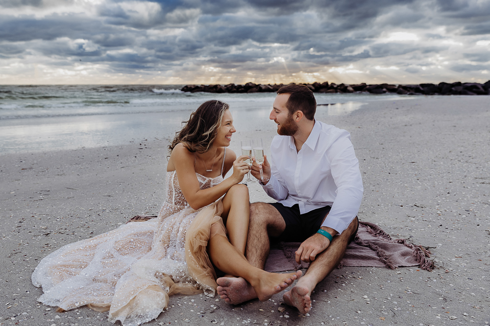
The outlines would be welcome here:
M 200 189 L 223 180 L 196 176 Z M 221 200 L 192 209 L 176 172 L 167 172 L 167 196 L 157 218 L 68 244 L 39 263 L 32 274 L 32 283 L 43 287 L 39 301 L 65 310 L 109 310 L 110 322 L 133 326 L 157 318 L 172 294 L 214 296 L 216 274 L 206 245 L 211 230 L 226 234 L 221 213 Z

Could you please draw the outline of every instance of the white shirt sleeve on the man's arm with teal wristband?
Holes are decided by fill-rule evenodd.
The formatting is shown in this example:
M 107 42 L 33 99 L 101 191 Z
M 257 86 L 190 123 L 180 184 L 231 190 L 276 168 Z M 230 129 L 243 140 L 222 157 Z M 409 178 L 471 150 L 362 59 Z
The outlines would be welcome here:
M 336 141 L 331 150 L 327 156 L 331 157 L 331 173 L 337 185 L 337 195 L 321 226 L 330 227 L 341 234 L 359 212 L 364 187 L 359 161 L 349 137 Z

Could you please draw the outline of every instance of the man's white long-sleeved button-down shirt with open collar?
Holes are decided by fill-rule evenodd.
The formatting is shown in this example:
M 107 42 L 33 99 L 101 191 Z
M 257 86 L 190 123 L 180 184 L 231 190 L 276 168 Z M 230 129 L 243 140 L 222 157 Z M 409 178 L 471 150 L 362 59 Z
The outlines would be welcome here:
M 277 135 L 270 153 L 266 193 L 284 206 L 298 204 L 301 214 L 332 206 L 321 226 L 341 234 L 359 212 L 364 192 L 350 134 L 316 121 L 299 152 L 292 136 Z

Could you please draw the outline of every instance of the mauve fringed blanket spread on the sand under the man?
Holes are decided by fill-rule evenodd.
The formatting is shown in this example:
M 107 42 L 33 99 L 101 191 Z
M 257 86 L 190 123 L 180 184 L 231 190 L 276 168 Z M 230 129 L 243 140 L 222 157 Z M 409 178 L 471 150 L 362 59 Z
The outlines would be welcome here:
M 265 270 L 283 272 L 308 267 L 308 263 L 298 265 L 294 253 L 301 243 L 280 242 L 272 246 Z M 359 230 L 345 251 L 342 266 L 397 267 L 419 266 L 431 271 L 434 262 L 430 251 L 420 245 L 409 243 L 406 239 L 392 239 L 383 229 L 373 223 L 359 221 Z

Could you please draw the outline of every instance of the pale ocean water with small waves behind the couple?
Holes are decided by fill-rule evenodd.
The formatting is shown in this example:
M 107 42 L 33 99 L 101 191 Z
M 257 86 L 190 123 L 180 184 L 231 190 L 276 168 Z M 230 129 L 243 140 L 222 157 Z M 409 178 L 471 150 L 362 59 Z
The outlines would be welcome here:
M 274 129 L 275 93 L 185 93 L 183 85 L 0 85 L 0 155 L 123 145 L 170 139 L 202 102 L 230 105 L 235 128 Z M 319 94 L 328 115 L 348 114 L 397 94 Z

